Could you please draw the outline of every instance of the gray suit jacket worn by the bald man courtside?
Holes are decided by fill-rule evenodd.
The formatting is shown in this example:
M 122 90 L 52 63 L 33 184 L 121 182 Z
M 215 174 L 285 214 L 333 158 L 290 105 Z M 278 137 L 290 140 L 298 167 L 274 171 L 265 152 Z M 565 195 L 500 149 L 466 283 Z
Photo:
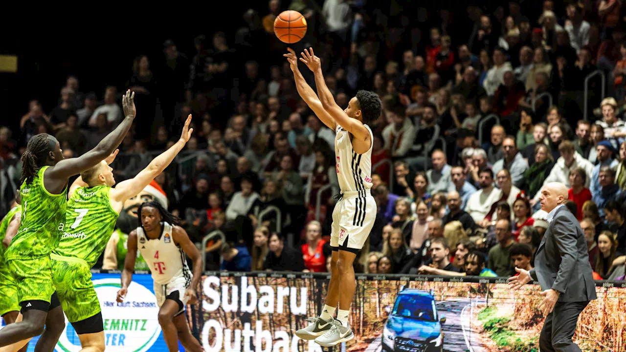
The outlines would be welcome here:
M 561 292 L 559 302 L 596 299 L 585 234 L 567 207 L 557 209 L 535 253 L 530 276 L 542 290 Z

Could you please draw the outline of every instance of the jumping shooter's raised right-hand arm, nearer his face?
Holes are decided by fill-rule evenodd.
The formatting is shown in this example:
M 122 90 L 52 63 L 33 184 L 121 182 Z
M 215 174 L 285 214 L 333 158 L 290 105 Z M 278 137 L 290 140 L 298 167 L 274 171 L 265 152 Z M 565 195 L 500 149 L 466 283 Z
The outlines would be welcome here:
M 345 128 L 348 132 L 359 140 L 367 140 L 369 131 L 362 122 L 346 115 L 346 112 L 337 105 L 335 98 L 332 97 L 331 90 L 328 89 L 326 81 L 324 81 L 324 73 L 322 73 L 322 61 L 315 56 L 313 48 L 304 49 L 300 61 L 305 63 L 309 70 L 313 71 L 315 76 L 315 84 L 317 86 L 317 96 L 322 102 L 324 110 L 331 115 L 331 118 L 339 123 L 339 126 Z

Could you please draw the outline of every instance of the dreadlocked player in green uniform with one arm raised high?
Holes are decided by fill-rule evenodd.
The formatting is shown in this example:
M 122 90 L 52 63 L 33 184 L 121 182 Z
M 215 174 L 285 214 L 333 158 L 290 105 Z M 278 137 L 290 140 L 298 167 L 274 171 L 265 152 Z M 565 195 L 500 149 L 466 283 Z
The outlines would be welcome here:
M 78 158 L 63 160 L 58 140 L 46 133 L 28 141 L 22 155 L 19 190 L 21 223 L 18 234 L 4 253 L 6 265 L 17 285 L 23 321 L 0 330 L 0 346 L 41 334 L 35 350 L 52 351 L 63 333 L 65 319 L 54 294 L 50 252 L 57 246 L 63 232 L 68 181 L 98 165 L 120 145 L 135 119 L 133 96 L 130 91 L 123 96 L 126 117 L 120 125 L 95 148 Z

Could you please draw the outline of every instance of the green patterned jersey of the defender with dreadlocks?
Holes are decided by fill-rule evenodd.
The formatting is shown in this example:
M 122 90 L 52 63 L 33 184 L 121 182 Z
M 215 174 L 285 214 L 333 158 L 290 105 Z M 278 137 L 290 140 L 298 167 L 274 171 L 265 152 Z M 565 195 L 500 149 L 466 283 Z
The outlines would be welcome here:
M 6 260 L 48 256 L 59 242 L 65 222 L 68 187 L 60 194 L 48 192 L 43 185 L 46 168 L 48 166 L 40 168 L 30 184 L 24 180 L 19 189 L 22 220 L 18 234 L 4 252 Z

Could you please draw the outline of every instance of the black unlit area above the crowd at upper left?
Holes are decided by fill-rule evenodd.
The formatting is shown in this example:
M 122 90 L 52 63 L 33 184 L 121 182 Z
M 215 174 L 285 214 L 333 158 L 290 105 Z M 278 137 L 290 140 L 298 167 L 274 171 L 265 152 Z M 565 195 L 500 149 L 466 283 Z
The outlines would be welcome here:
M 223 9 L 218 10 L 216 4 Z M 122 93 L 136 56 L 148 55 L 151 65 L 160 61 L 165 40 L 172 39 L 178 51 L 191 58 L 198 34 L 207 36 L 210 43 L 213 33 L 223 31 L 232 44 L 235 31 L 245 26 L 246 9 L 253 8 L 261 16 L 267 13 L 263 0 L 209 1 L 184 13 L 171 6 L 153 3 L 148 9 L 115 12 L 96 6 L 83 15 L 91 19 L 81 22 L 76 14 L 55 11 L 2 31 L 0 54 L 18 55 L 18 73 L 0 73 L 0 125 L 18 128 L 29 100 L 39 100 L 44 111 L 51 111 L 69 75 L 76 75 L 81 92 L 93 91 L 101 100 L 106 85 L 117 86 L 118 94 Z M 158 14 L 148 14 L 154 11 Z M 262 58 L 261 51 L 254 60 Z

